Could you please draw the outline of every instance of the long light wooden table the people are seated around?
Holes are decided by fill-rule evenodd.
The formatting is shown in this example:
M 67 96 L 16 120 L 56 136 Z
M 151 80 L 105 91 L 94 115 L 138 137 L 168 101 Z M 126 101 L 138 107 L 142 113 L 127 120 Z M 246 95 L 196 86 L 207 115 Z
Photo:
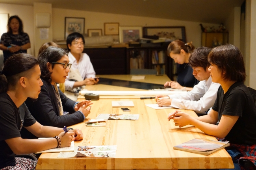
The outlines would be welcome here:
M 112 77 L 111 77 L 112 76 Z M 99 77 L 113 78 L 113 75 Z M 130 80 L 131 75 L 115 78 Z M 147 78 L 151 78 L 150 80 Z M 169 80 L 167 76 L 146 75 L 141 82 L 164 84 Z M 88 90 L 132 90 L 117 86 L 98 84 L 86 86 Z M 141 169 L 221 169 L 234 168 L 230 155 L 220 150 L 210 155 L 193 154 L 174 150 L 173 146 L 184 143 L 196 137 L 216 140 L 206 135 L 194 126 L 178 128 L 173 121 L 167 121 L 167 115 L 174 109 L 154 110 L 145 104 L 155 103 L 154 100 L 141 99 L 100 99 L 93 101 L 91 113 L 85 119 L 94 119 L 100 113 L 123 114 L 120 108 L 112 108 L 111 101 L 133 101 L 135 107 L 129 108 L 130 114 L 139 114 L 137 121 L 109 120 L 107 126 L 86 127 L 84 122 L 70 126 L 79 128 L 83 132 L 83 140 L 75 141 L 76 146 L 117 145 L 116 157 L 75 157 L 58 158 L 59 153 L 46 153 L 39 157 L 36 169 L 58 170 L 141 170 Z M 195 112 L 182 110 L 197 117 Z M 127 113 L 127 112 L 125 112 Z M 128 112 L 129 113 L 129 112 Z

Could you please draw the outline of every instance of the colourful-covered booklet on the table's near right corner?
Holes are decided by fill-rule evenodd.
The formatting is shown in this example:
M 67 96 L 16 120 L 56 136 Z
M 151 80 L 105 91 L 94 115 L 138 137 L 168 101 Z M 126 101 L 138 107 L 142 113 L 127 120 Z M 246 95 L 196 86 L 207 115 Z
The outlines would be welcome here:
M 182 144 L 173 146 L 173 149 L 192 152 L 196 154 L 210 155 L 217 150 L 229 146 L 228 142 L 212 141 L 209 139 L 195 138 Z

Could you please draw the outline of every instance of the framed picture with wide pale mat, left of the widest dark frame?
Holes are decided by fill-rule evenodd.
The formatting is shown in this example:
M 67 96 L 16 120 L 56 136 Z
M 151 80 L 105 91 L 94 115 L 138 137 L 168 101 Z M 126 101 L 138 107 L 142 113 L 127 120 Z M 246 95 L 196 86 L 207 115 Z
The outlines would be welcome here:
M 119 27 L 119 42 L 135 42 L 142 37 L 142 27 Z

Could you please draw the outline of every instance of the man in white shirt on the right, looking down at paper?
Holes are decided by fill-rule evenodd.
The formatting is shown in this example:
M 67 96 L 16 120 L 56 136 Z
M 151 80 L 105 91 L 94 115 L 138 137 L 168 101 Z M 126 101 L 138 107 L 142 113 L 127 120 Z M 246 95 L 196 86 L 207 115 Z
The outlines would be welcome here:
M 159 106 L 173 106 L 174 108 L 194 110 L 196 113 L 207 112 L 214 104 L 220 84 L 211 81 L 208 67 L 208 54 L 211 49 L 200 47 L 195 49 L 189 57 L 189 64 L 193 68 L 193 75 L 200 82 L 193 90 L 182 94 L 168 95 L 169 99 L 158 99 L 166 97 L 156 96 Z

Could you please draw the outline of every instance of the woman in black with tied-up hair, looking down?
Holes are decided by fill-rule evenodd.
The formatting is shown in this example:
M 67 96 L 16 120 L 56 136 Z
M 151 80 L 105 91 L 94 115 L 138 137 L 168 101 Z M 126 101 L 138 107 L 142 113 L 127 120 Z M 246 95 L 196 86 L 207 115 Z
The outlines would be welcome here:
M 195 49 L 191 42 L 184 43 L 180 40 L 171 42 L 167 51 L 175 63 L 178 63 L 178 77 L 177 82 L 166 82 L 164 86 L 171 86 L 171 88 L 191 91 L 198 80 L 193 75 L 193 69 L 189 65 L 190 53 Z

